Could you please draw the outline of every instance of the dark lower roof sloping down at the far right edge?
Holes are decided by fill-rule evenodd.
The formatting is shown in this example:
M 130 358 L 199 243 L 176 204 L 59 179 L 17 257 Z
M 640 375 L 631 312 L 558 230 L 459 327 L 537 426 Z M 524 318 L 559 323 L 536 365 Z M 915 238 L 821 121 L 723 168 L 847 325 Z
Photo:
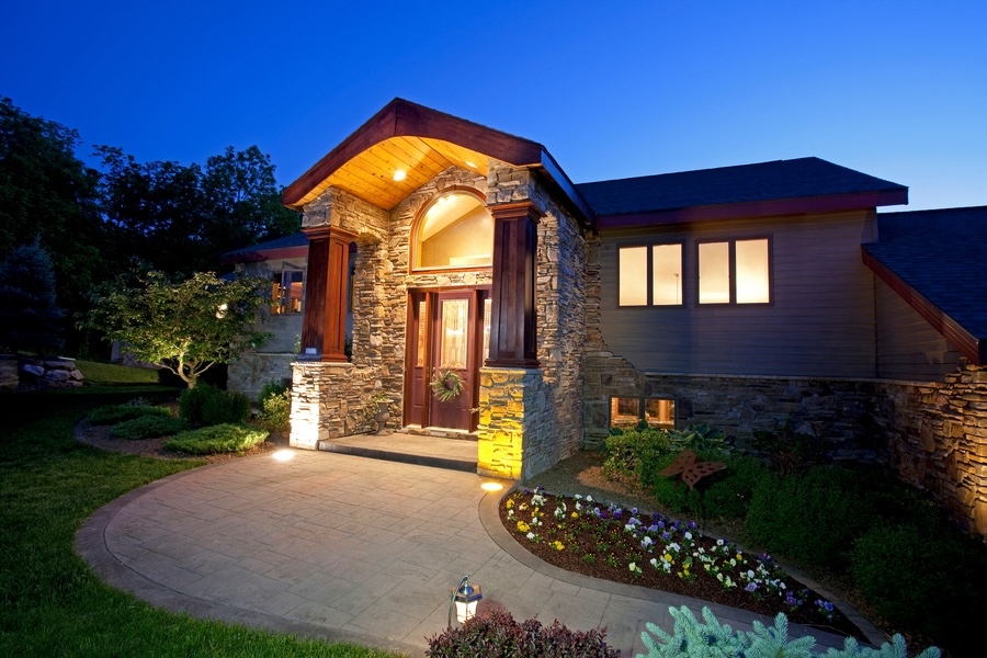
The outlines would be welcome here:
M 928 303 L 933 308 L 926 313 L 944 315 L 946 330 L 967 334 L 967 358 L 987 361 L 987 206 L 881 213 L 877 242 L 863 251 L 864 262 L 878 275 L 889 273 L 892 281 L 882 279 L 919 313 Z M 962 343 L 964 337 L 948 338 Z

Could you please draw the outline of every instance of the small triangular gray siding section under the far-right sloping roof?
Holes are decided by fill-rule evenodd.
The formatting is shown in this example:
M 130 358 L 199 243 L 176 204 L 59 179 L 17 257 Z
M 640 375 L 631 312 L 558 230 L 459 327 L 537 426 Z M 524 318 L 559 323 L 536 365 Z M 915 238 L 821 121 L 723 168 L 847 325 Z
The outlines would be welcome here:
M 896 292 L 877 283 L 877 375 L 938 381 L 956 370 L 960 352 Z

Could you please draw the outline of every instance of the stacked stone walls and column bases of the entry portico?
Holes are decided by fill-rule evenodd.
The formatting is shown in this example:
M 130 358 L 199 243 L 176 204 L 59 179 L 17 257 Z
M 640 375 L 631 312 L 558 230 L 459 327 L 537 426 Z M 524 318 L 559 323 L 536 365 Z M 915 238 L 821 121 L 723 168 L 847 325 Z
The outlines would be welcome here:
M 293 364 L 293 444 L 316 447 L 319 440 L 367 431 L 363 408 L 374 393 L 388 395 L 395 412 L 402 409 L 409 291 L 492 284 L 489 270 L 410 272 L 415 217 L 435 195 L 452 189 L 473 190 L 488 205 L 530 201 L 544 213 L 537 227 L 535 282 L 540 368 L 481 371 L 480 407 L 486 411 L 480 411 L 477 432 L 480 469 L 507 477 L 533 475 L 581 446 L 583 229 L 531 170 L 497 161 L 489 163 L 486 178 L 450 168 L 390 212 L 332 188 L 305 207 L 305 228 L 329 225 L 358 236 L 353 356 L 350 364 Z M 494 445 L 496 450 L 484 447 Z

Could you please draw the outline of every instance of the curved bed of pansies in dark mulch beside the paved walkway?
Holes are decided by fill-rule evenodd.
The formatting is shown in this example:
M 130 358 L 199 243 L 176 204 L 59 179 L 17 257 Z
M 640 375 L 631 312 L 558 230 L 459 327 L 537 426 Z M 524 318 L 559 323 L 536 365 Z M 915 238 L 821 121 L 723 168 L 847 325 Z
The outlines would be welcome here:
M 770 556 L 704 536 L 695 523 L 541 488 L 511 492 L 500 518 L 522 546 L 563 569 L 769 616 L 784 612 L 793 622 L 866 640 L 831 602 Z

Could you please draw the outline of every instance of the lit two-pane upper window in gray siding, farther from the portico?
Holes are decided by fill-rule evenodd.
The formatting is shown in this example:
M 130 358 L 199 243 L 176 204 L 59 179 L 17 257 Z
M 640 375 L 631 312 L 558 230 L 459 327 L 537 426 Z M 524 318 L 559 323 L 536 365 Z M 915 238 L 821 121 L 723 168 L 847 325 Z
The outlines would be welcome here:
M 700 304 L 771 302 L 768 239 L 699 246 Z

